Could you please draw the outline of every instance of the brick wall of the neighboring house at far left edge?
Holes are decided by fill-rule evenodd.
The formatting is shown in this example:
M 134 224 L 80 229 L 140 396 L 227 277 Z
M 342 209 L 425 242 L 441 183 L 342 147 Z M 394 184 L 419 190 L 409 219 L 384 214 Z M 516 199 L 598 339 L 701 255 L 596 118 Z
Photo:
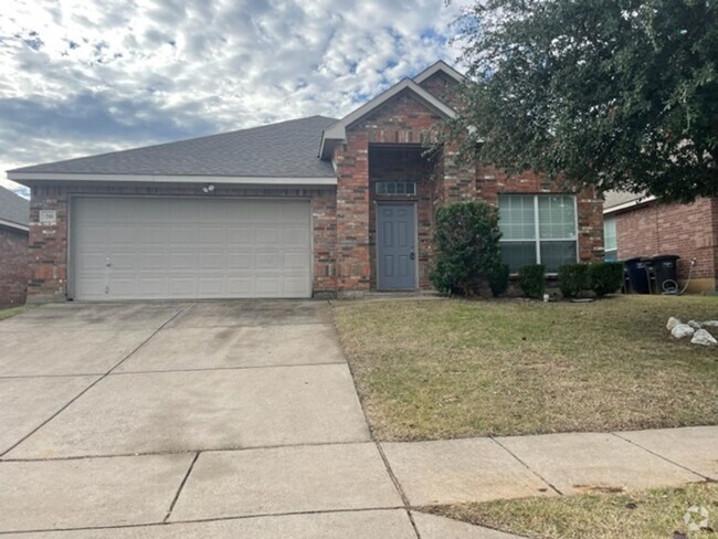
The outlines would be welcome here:
M 24 305 L 28 292 L 28 233 L 0 226 L 0 305 Z

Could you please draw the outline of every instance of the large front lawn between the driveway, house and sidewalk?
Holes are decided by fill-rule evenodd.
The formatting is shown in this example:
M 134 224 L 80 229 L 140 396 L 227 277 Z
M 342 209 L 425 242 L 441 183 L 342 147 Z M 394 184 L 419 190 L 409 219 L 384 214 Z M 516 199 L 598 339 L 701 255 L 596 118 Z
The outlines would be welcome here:
M 716 297 L 334 305 L 378 440 L 718 422 L 718 349 L 665 329 L 669 316 L 718 319 Z

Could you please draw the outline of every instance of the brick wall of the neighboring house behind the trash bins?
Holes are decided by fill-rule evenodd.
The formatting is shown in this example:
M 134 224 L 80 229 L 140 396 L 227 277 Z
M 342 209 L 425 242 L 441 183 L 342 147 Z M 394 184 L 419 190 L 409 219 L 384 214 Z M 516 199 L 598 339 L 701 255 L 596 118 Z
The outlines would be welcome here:
M 620 258 L 677 254 L 678 278 L 718 278 L 718 199 L 698 199 L 690 204 L 642 207 L 615 214 Z

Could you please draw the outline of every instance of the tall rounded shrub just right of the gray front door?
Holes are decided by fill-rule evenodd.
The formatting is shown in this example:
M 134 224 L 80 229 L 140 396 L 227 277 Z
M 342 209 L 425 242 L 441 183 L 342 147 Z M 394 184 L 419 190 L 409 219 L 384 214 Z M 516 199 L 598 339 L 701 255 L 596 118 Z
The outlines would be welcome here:
M 501 263 L 500 237 L 498 211 L 485 202 L 436 210 L 434 245 L 439 255 L 430 274 L 434 287 L 443 294 L 477 294 Z

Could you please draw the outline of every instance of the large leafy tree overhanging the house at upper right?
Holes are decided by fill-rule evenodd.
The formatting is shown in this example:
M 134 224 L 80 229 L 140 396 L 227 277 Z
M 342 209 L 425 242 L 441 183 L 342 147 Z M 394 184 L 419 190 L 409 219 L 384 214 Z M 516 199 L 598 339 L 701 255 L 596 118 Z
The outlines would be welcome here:
M 718 194 L 716 0 L 479 0 L 457 28 L 468 72 L 447 136 L 465 157 L 600 191 Z

